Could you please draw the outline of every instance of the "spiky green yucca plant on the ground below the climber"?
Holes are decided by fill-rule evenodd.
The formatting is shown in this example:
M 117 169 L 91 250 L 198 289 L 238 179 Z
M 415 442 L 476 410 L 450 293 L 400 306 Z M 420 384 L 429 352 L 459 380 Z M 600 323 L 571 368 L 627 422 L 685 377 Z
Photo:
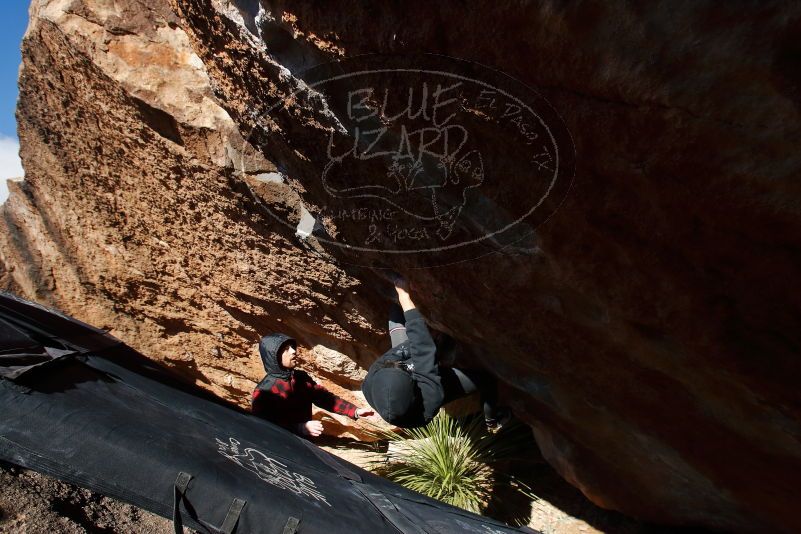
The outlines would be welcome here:
M 385 460 L 371 467 L 406 488 L 475 513 L 501 482 L 536 499 L 527 486 L 495 469 L 519 448 L 516 430 L 489 434 L 481 416 L 454 419 L 440 411 L 422 428 L 377 431 L 388 448 Z

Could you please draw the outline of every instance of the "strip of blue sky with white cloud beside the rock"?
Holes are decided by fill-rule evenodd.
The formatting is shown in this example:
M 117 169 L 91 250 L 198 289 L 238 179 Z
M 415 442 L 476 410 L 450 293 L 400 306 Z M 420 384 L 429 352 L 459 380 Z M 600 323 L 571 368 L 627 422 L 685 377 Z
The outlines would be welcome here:
M 28 0 L 5 0 L 0 8 L 0 202 L 6 195 L 6 178 L 19 177 L 19 142 L 14 109 L 20 43 L 28 26 Z

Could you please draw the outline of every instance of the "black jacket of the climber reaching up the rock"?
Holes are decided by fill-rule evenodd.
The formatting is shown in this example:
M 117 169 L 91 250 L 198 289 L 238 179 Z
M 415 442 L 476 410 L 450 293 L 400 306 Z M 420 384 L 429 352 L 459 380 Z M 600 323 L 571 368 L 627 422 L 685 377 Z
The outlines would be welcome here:
M 417 309 L 403 313 L 406 335 L 397 347 L 385 352 L 370 366 L 362 392 L 388 423 L 403 428 L 423 426 L 437 415 L 445 398 L 436 346 Z M 393 366 L 402 362 L 402 366 Z

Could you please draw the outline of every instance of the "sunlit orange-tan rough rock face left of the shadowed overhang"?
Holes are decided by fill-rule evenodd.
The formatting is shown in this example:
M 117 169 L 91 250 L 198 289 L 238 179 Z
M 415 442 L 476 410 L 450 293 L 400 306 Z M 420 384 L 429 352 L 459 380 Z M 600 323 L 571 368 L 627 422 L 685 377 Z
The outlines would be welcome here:
M 33 2 L 23 53 L 28 175 L 3 207 L 7 288 L 240 404 L 270 331 L 333 366 L 369 361 L 375 295 L 265 215 L 299 213 L 299 199 L 259 179 L 274 166 L 241 151 L 166 3 Z

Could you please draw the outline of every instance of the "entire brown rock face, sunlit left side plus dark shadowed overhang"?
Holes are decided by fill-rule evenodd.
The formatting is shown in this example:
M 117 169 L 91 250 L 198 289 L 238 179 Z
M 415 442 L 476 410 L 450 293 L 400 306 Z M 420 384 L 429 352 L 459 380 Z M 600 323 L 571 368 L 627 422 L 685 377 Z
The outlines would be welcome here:
M 242 402 L 267 330 L 357 389 L 386 343 L 386 283 L 362 266 L 392 266 L 432 325 L 477 347 L 463 357 L 504 382 L 545 456 L 596 503 L 801 529 L 801 8 L 262 4 L 34 3 L 6 287 Z M 353 129 L 298 79 L 372 52 L 480 62 L 547 99 L 554 143 L 569 148 L 547 216 L 452 256 L 388 253 L 387 235 L 356 248 L 369 225 L 327 217 L 353 205 L 330 186 L 385 169 L 321 181 L 332 132 Z M 495 124 L 468 100 L 483 165 L 446 161 L 447 183 L 474 187 L 451 234 L 431 228 L 441 244 L 514 219 L 540 185 L 541 162 L 515 155 L 517 137 L 482 138 Z M 407 185 L 412 170 L 399 171 Z M 370 202 L 356 205 L 386 207 Z M 297 237 L 304 210 L 351 246 Z

